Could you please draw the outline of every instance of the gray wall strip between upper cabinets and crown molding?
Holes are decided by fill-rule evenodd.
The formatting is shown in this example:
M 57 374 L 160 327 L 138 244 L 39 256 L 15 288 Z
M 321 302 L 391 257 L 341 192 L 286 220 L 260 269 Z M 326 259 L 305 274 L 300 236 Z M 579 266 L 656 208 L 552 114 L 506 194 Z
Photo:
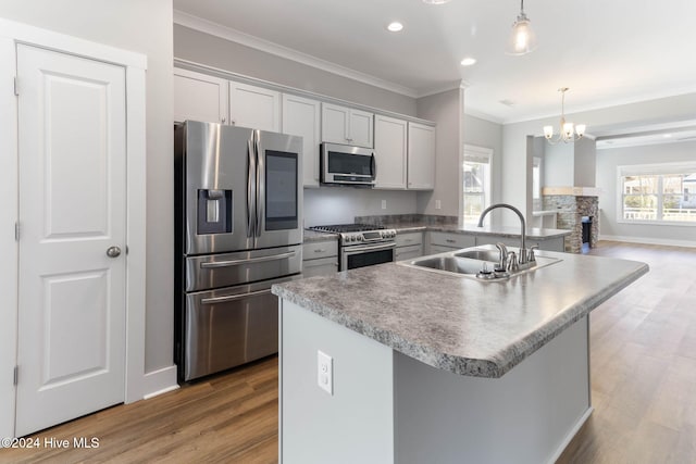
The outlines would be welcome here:
M 174 57 L 258 79 L 415 116 L 415 100 L 210 34 L 174 25 Z

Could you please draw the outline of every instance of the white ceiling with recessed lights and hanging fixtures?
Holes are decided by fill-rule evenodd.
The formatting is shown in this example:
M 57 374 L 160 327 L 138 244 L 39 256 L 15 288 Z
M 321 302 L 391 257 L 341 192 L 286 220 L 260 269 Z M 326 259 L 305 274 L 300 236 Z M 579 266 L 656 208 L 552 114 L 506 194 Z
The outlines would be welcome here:
M 178 12 L 260 38 L 266 50 L 412 97 L 463 80 L 467 112 L 501 123 L 558 115 L 563 86 L 567 113 L 696 91 L 694 0 L 524 7 L 538 48 L 511 57 L 504 50 L 519 0 L 174 0 Z M 388 33 L 391 21 L 403 30 Z M 462 67 L 464 57 L 477 63 Z

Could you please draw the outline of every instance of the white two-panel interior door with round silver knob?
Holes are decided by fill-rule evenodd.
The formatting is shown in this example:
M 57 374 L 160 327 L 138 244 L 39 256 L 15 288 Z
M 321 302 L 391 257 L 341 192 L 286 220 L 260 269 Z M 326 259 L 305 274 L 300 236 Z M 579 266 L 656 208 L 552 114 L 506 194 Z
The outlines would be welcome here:
M 124 401 L 125 68 L 18 45 L 17 83 L 23 436 Z

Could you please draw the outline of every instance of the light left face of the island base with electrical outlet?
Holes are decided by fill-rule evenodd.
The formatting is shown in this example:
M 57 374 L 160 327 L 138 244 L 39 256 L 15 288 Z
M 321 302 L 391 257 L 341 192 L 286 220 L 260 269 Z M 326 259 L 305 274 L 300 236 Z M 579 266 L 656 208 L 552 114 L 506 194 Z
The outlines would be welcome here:
M 281 300 L 279 461 L 394 463 L 393 351 Z M 333 359 L 333 394 L 318 352 Z

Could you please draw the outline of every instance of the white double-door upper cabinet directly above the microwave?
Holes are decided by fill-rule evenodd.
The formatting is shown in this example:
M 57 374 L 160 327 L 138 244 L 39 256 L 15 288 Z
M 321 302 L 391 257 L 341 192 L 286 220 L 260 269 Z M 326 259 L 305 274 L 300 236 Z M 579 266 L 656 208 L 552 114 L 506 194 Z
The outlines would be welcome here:
M 322 141 L 373 148 L 374 114 L 322 103 Z

